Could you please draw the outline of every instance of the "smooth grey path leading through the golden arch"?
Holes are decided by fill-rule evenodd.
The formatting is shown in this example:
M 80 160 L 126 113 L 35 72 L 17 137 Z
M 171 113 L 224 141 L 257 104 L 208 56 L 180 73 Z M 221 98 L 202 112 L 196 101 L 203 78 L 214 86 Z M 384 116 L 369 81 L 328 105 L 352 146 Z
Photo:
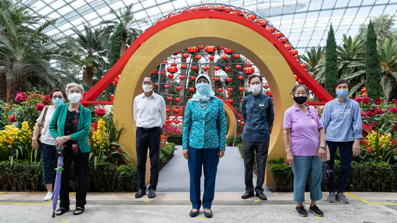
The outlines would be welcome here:
M 157 193 L 188 193 L 189 169 L 182 155 L 182 146 L 177 146 L 175 156 L 160 171 Z M 256 175 L 253 176 L 256 185 Z M 265 192 L 270 192 L 265 185 Z M 204 174 L 201 176 L 201 192 L 204 192 Z M 215 192 L 245 193 L 244 161 L 235 146 L 226 146 L 225 156 L 220 159 L 216 174 Z

